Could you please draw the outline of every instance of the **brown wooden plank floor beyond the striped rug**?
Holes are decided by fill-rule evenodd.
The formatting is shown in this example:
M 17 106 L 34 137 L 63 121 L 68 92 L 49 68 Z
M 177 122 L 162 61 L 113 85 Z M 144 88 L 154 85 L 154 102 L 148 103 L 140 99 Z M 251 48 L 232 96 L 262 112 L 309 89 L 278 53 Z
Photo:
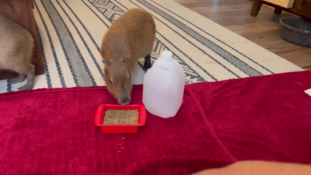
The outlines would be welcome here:
M 257 17 L 250 16 L 251 0 L 173 0 L 194 12 L 253 41 L 305 70 L 311 70 L 311 48 L 296 46 L 280 37 L 279 20 L 291 16 L 262 6 Z

